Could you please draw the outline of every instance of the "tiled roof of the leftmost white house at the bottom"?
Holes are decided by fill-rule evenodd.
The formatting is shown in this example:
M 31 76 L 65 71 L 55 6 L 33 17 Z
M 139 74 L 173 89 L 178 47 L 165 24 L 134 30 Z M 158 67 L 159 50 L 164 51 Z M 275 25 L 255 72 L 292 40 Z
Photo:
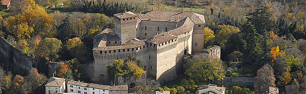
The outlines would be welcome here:
M 65 79 L 58 77 L 50 77 L 45 86 L 61 87 L 65 83 Z

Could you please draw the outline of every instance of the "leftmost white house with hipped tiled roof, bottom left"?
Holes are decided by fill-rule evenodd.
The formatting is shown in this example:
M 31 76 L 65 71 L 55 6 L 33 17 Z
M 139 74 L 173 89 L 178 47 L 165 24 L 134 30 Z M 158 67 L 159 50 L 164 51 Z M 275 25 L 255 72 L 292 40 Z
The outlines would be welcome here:
M 50 77 L 45 85 L 46 94 L 53 94 L 54 92 L 64 92 L 66 89 L 65 79 L 58 77 Z

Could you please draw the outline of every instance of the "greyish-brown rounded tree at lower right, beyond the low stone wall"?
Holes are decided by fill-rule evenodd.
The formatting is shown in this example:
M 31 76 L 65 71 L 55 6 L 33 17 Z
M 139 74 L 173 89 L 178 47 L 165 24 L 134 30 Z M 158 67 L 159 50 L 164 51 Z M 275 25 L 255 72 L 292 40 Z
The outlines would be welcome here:
M 275 78 L 273 68 L 269 64 L 265 64 L 257 71 L 254 79 L 255 91 L 261 90 L 262 87 L 275 87 Z

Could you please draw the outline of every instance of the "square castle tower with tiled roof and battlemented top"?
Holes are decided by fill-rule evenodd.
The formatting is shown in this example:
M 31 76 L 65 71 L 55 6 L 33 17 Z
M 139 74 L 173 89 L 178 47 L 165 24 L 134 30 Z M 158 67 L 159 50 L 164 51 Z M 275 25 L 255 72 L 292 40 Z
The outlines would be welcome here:
M 120 37 L 122 44 L 136 38 L 136 30 L 140 22 L 136 14 L 130 11 L 114 14 L 114 22 L 115 34 Z

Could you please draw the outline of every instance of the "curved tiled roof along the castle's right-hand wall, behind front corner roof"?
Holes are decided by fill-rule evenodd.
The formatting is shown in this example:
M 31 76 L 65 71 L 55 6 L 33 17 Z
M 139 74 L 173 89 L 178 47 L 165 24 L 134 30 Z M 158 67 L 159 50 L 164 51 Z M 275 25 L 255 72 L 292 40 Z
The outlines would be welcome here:
M 179 25 L 179 27 L 169 31 L 169 34 L 178 36 L 185 32 L 191 31 L 193 29 L 193 26 L 195 25 L 195 23 L 191 21 L 190 17 L 184 18 L 183 20 L 179 21 L 177 24 Z

